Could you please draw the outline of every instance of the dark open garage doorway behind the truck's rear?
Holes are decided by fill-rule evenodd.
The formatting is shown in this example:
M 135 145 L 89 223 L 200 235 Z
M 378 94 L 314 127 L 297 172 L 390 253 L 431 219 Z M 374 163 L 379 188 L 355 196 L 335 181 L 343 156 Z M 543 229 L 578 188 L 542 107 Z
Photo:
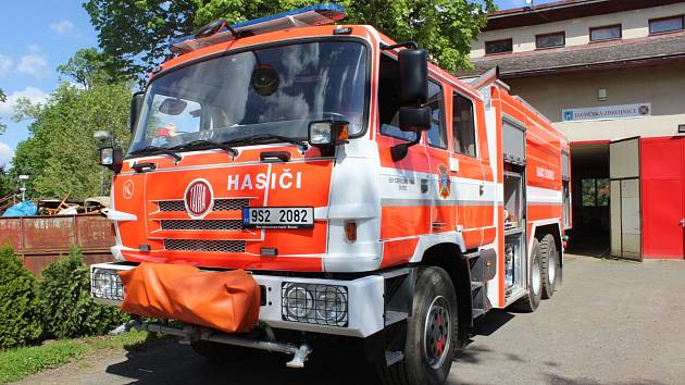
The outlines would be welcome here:
M 611 253 L 609 141 L 571 144 L 573 229 L 569 252 Z

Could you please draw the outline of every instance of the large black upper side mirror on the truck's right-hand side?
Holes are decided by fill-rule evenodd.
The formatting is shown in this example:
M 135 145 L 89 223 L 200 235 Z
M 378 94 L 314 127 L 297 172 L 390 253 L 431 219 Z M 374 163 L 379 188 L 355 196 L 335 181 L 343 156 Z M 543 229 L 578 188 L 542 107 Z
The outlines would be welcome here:
M 421 105 L 428 100 L 428 55 L 423 49 L 399 51 L 400 102 Z

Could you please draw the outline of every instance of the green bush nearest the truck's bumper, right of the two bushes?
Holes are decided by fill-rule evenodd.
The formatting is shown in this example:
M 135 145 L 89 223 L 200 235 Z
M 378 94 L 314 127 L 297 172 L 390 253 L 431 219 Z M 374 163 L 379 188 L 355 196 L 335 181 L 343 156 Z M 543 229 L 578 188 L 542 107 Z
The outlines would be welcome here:
M 39 285 L 46 332 L 58 338 L 101 335 L 128 320 L 119 309 L 90 298 L 90 273 L 80 250 L 50 263 Z

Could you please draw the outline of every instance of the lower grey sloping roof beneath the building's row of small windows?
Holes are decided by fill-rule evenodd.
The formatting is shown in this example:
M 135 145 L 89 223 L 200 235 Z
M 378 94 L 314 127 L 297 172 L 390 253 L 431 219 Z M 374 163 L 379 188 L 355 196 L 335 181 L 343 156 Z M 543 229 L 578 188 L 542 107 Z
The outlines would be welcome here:
M 474 70 L 459 75 L 482 74 L 495 65 L 499 65 L 501 78 L 513 78 L 648 65 L 673 60 L 685 60 L 685 33 L 474 58 Z

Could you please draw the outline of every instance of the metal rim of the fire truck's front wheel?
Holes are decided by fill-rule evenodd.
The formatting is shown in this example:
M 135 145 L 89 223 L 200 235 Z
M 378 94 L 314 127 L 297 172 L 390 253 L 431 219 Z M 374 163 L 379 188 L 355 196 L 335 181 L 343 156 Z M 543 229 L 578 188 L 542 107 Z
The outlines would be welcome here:
M 426 362 L 433 369 L 440 368 L 452 343 L 451 316 L 443 296 L 436 297 L 428 308 L 423 340 Z

